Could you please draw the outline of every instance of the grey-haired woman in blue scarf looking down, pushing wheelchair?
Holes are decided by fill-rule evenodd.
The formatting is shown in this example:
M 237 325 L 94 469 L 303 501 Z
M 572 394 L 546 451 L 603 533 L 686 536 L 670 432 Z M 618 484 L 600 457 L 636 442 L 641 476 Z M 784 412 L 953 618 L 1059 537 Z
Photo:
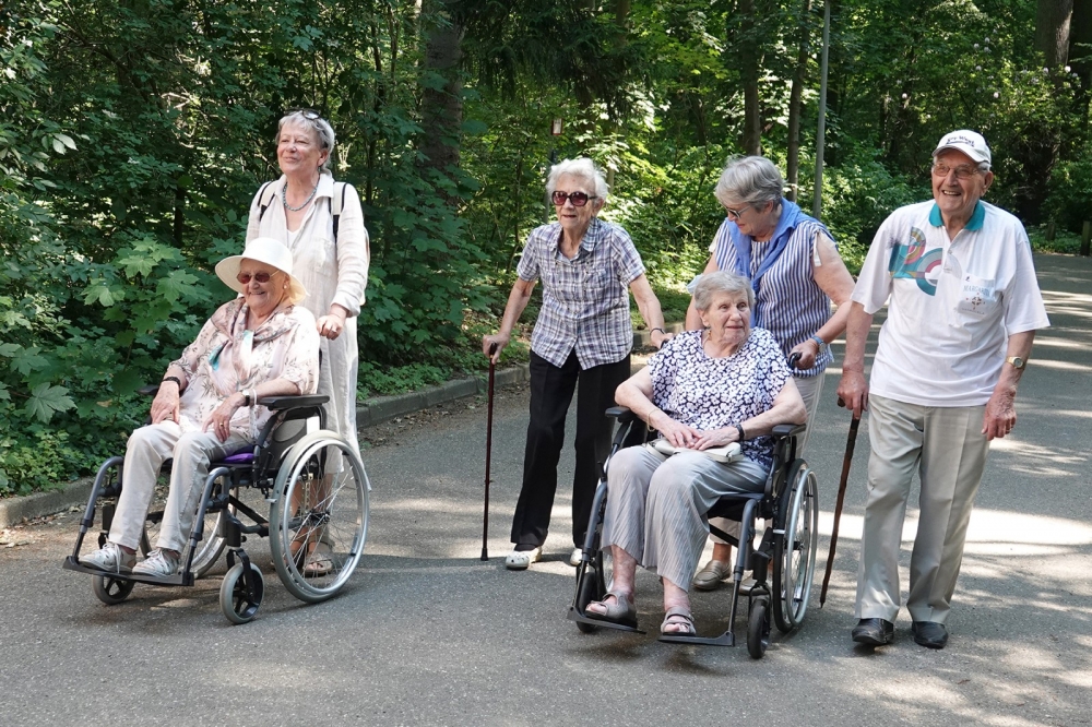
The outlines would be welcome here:
M 797 452 L 803 452 L 833 358 L 830 343 L 845 331 L 853 277 L 827 228 L 782 196 L 784 188 L 778 167 L 765 157 L 728 162 L 714 190 L 727 216 L 709 248 L 704 272 L 723 270 L 749 279 L 755 290 L 751 323 L 772 333 L 786 357 L 799 354 L 793 378 L 808 410 L 808 429 L 797 440 Z M 838 306 L 833 315 L 832 300 Z M 687 330 L 702 327 L 692 300 L 686 321 Z M 723 519 L 713 523 L 725 532 L 735 529 Z M 700 591 L 720 587 L 732 572 L 732 546 L 715 537 L 713 544 L 712 559 L 693 579 Z

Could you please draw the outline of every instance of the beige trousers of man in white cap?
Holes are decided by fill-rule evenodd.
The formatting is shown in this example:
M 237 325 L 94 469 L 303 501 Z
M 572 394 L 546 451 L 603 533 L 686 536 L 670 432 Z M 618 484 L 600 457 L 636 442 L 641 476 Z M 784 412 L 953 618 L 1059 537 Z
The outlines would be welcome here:
M 857 574 L 858 619 L 894 621 L 899 613 L 899 551 L 915 472 L 922 480 L 921 517 L 906 609 L 914 621 L 943 623 L 948 618 L 989 449 L 982 433 L 985 408 L 868 397 L 871 454 Z

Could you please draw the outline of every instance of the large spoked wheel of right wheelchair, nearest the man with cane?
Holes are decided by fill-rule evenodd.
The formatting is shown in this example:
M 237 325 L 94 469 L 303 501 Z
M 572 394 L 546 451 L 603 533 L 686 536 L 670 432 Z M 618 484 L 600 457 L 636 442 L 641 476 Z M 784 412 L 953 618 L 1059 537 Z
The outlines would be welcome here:
M 784 535 L 773 546 L 773 616 L 783 633 L 798 627 L 808 610 L 819 538 L 818 486 L 804 460 L 790 467 L 786 485 L 779 517 Z

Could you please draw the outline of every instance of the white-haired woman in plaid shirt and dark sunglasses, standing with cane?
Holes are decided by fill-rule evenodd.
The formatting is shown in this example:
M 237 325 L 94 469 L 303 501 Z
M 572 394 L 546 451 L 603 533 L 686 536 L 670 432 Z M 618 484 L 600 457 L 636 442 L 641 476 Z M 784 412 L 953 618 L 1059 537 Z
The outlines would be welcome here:
M 557 491 L 565 417 L 574 389 L 579 389 L 572 478 L 574 549 L 569 563 L 580 563 L 597 463 L 610 444 L 613 422 L 605 412 L 614 406 L 615 389 L 630 376 L 629 291 L 651 330 L 653 345 L 660 347 L 670 337 L 633 241 L 618 225 L 598 218 L 607 183 L 592 160 L 566 159 L 551 167 L 546 192 L 557 222 L 527 237 L 500 331 L 482 341 L 485 355 L 499 360 L 541 279 L 542 309 L 531 336 L 531 422 L 523 488 L 512 521 L 515 548 L 505 560 L 510 570 L 524 570 L 542 557 Z M 494 346 L 496 350 L 490 350 Z

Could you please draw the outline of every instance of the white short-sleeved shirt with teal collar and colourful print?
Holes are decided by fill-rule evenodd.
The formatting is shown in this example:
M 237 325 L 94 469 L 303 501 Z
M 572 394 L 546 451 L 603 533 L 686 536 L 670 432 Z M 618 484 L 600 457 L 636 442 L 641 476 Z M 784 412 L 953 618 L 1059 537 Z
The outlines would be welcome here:
M 1051 324 L 1023 225 L 982 201 L 950 242 L 935 202 L 883 222 L 852 299 L 875 313 L 889 296 L 869 391 L 907 404 L 985 404 L 1008 336 Z

